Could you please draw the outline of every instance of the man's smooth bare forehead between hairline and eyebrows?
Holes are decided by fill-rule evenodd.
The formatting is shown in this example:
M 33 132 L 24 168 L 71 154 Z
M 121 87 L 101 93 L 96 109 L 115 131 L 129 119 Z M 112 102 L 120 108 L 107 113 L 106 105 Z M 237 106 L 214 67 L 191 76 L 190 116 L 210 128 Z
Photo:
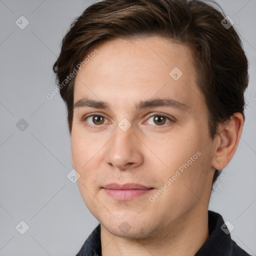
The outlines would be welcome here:
M 196 86 L 192 52 L 187 46 L 150 37 L 111 39 L 95 48 L 98 53 L 88 52 L 89 61 L 76 75 L 74 102 L 90 97 L 110 104 L 128 104 L 169 96 L 192 104 L 195 97 L 202 98 Z

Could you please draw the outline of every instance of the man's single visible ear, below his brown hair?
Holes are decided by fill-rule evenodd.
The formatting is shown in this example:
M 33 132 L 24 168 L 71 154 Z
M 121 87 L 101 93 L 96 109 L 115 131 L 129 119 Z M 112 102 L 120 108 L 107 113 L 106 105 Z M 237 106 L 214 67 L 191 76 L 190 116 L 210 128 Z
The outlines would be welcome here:
M 211 166 L 215 169 L 223 169 L 233 157 L 242 133 L 243 116 L 234 113 L 225 122 L 219 124 L 219 133 L 216 138 L 215 149 Z

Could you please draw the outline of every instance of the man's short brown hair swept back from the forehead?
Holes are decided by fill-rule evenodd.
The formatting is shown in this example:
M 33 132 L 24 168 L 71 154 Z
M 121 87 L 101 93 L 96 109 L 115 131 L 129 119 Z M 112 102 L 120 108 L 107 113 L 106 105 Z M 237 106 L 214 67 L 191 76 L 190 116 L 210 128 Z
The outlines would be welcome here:
M 221 9 L 216 2 L 210 3 Z M 70 134 L 75 76 L 64 85 L 63 81 L 96 43 L 110 38 L 156 35 L 188 46 L 194 56 L 197 86 L 208 110 L 211 139 L 217 134 L 217 125 L 234 112 L 242 113 L 244 118 L 248 61 L 233 26 L 227 29 L 221 24 L 225 18 L 221 11 L 201 0 L 102 0 L 86 8 L 71 23 L 53 65 L 67 108 Z M 212 185 L 219 174 L 220 170 L 215 170 Z

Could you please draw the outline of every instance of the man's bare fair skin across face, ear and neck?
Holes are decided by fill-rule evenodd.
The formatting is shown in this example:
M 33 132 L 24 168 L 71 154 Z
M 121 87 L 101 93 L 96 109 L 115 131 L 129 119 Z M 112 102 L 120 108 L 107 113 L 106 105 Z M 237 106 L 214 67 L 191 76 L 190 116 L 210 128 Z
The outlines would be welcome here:
M 98 53 L 76 75 L 74 102 L 83 97 L 102 100 L 110 109 L 74 108 L 71 151 L 81 196 L 101 224 L 102 255 L 194 255 L 209 235 L 213 167 L 221 169 L 232 158 L 242 115 L 234 113 L 210 139 L 207 108 L 187 46 L 155 36 L 111 39 L 96 48 Z M 169 75 L 174 67 L 182 71 L 177 80 Z M 166 97 L 187 107 L 135 109 L 140 100 Z M 86 118 L 94 112 L 94 118 L 103 116 L 102 124 L 93 116 Z M 153 118 L 162 115 L 167 118 L 155 123 Z M 118 126 L 123 118 L 131 124 L 126 131 Z M 151 202 L 149 196 L 197 151 L 200 156 Z M 153 189 L 118 200 L 102 188 L 111 182 Z M 119 228 L 121 223 L 126 231 Z

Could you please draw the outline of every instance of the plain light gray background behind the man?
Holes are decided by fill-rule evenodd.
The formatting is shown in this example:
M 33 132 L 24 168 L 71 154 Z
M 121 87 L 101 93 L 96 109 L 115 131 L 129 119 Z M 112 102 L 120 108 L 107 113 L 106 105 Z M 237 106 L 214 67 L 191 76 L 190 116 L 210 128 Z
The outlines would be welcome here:
M 218 2 L 241 35 L 250 82 L 241 140 L 209 209 L 230 221 L 232 239 L 256 255 L 256 0 Z M 91 3 L 0 0 L 0 255 L 75 255 L 98 223 L 66 177 L 72 166 L 65 105 L 59 94 L 46 98 L 60 41 Z M 15 24 L 21 15 L 29 21 L 24 29 Z M 28 123 L 23 130 L 16 126 L 21 118 Z M 29 226 L 23 235 L 15 229 L 21 220 Z

